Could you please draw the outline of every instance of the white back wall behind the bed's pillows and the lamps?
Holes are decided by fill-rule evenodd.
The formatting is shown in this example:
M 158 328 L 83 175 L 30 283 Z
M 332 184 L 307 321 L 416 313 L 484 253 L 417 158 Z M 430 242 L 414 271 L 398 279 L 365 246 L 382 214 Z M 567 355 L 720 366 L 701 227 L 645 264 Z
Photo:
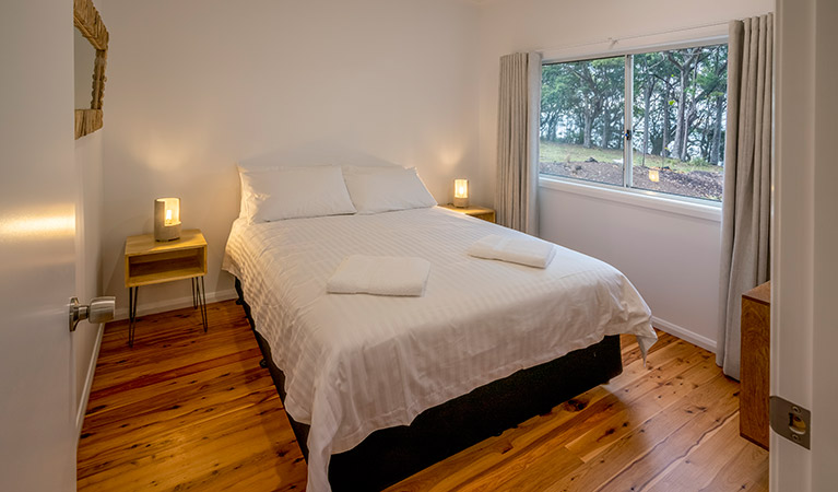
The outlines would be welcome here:
M 480 174 L 472 3 L 107 7 L 103 273 L 122 308 L 125 238 L 152 232 L 152 202 L 164 196 L 180 197 L 184 226 L 209 241 L 210 300 L 232 295 L 220 265 L 238 214 L 236 162 L 369 156 L 416 166 L 440 202 L 455 177 Z M 140 312 L 187 305 L 190 294 L 187 282 L 143 288 Z

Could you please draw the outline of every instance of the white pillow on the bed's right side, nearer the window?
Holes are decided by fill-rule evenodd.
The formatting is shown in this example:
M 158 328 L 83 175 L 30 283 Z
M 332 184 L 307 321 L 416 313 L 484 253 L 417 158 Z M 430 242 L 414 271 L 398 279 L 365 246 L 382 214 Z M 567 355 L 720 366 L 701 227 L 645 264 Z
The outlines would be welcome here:
M 411 167 L 345 167 L 343 179 L 358 213 L 434 207 L 436 200 Z

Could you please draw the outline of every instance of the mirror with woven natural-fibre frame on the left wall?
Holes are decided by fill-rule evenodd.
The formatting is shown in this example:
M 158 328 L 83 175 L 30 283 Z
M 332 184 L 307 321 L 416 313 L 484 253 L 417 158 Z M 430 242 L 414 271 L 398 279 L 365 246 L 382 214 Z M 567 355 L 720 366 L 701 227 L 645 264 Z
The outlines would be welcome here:
M 109 35 L 91 0 L 73 0 L 73 25 L 76 28 L 75 138 L 79 139 L 103 125 L 102 99 Z

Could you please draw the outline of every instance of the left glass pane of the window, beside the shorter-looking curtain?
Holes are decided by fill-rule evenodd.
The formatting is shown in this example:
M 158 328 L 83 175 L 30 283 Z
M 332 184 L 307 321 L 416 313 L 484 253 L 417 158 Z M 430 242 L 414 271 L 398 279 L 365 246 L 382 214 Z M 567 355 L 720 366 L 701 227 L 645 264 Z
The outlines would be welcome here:
M 624 60 L 543 67 L 542 174 L 623 186 Z

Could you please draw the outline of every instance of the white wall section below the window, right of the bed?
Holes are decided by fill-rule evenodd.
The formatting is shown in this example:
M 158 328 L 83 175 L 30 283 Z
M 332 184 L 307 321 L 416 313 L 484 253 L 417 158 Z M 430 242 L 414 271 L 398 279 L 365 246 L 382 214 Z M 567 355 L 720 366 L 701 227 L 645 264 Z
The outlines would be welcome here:
M 539 192 L 542 237 L 617 267 L 652 308 L 656 327 L 716 350 L 718 214 L 691 216 L 547 187 Z

